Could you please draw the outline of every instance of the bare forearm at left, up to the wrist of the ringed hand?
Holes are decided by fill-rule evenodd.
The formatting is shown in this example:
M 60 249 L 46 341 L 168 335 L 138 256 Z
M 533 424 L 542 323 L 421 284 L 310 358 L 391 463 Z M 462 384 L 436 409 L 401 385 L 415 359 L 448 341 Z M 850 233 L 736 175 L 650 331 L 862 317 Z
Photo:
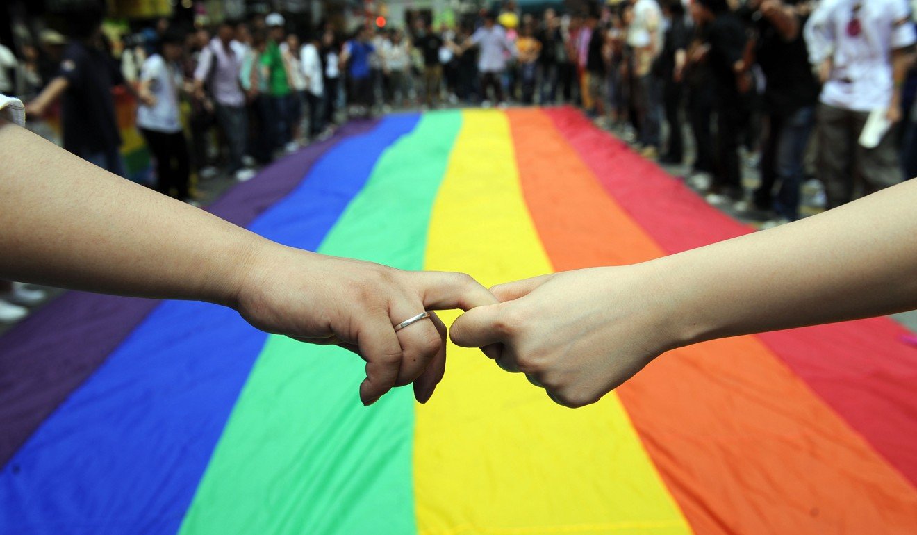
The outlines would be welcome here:
M 231 305 L 262 240 L 0 122 L 0 278 Z

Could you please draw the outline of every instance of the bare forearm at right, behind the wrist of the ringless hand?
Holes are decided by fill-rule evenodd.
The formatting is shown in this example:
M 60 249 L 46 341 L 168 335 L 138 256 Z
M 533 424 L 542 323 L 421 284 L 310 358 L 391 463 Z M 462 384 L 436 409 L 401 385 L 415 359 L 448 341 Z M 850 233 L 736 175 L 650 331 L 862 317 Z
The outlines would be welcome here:
M 679 344 L 917 308 L 917 181 L 650 262 Z

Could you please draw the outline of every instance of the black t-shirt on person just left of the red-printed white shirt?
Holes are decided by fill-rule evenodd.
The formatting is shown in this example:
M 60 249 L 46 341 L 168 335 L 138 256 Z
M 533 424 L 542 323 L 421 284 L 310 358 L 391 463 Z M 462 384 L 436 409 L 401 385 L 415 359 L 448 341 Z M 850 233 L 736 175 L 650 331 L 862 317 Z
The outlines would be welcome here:
M 796 2 L 790 0 L 788 4 Z M 806 20 L 799 21 L 796 39 L 787 41 L 759 12 L 750 16 L 758 33 L 757 64 L 767 81 L 764 93 L 767 111 L 791 113 L 803 106 L 814 106 L 821 86 L 812 73 L 809 51 L 802 37 Z

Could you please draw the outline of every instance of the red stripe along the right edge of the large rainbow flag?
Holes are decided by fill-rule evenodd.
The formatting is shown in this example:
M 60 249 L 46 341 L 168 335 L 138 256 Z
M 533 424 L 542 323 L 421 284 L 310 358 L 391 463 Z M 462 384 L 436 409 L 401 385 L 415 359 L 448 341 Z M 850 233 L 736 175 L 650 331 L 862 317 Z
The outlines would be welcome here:
M 655 163 L 572 108 L 546 110 L 610 195 L 667 253 L 752 229 L 707 206 Z M 917 485 L 917 351 L 888 318 L 758 335 L 814 392 Z

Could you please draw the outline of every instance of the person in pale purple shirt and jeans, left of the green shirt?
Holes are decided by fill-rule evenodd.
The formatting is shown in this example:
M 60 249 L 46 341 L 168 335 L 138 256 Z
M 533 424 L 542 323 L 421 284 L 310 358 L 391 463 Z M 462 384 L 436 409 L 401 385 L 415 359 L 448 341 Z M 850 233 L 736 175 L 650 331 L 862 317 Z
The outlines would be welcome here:
M 194 93 L 197 98 L 210 94 L 214 102 L 216 122 L 226 138 L 230 176 L 242 182 L 255 175 L 242 163 L 249 143 L 249 112 L 246 110 L 246 95 L 239 84 L 245 47 L 234 39 L 236 28 L 229 22 L 220 24 L 216 37 L 201 50 L 194 69 Z

